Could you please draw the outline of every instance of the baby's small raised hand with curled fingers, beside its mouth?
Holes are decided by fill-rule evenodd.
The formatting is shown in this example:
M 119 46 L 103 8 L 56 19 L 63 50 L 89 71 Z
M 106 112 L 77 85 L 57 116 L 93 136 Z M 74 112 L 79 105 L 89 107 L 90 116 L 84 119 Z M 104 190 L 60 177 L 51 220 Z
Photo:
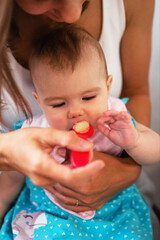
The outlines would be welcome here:
M 138 132 L 127 112 L 108 110 L 97 121 L 97 128 L 116 145 L 123 149 L 135 146 Z

